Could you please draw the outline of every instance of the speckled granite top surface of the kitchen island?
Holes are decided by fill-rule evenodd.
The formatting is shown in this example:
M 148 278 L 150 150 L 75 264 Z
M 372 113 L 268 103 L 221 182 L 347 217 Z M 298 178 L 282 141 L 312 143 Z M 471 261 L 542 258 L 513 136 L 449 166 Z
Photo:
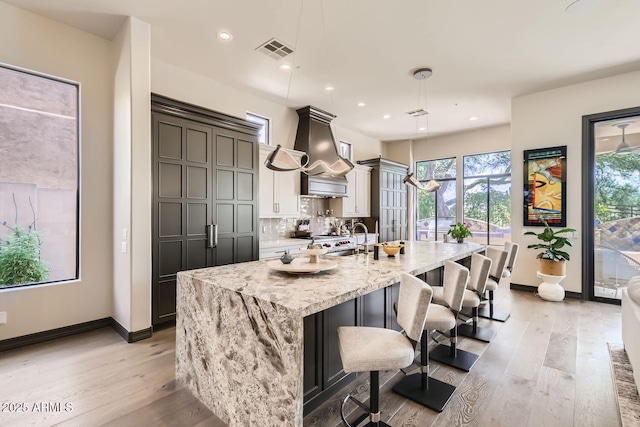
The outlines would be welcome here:
M 299 239 L 288 239 L 298 240 Z M 479 252 L 474 243 L 407 242 L 406 253 L 380 259 L 373 253 L 326 257 L 337 267 L 316 274 L 291 275 L 269 268 L 273 260 L 190 270 L 178 273 L 203 284 L 222 287 L 307 316 L 400 281 L 400 273 L 422 274 Z M 297 257 L 305 257 L 298 255 Z M 297 258 L 296 257 L 296 258 Z

